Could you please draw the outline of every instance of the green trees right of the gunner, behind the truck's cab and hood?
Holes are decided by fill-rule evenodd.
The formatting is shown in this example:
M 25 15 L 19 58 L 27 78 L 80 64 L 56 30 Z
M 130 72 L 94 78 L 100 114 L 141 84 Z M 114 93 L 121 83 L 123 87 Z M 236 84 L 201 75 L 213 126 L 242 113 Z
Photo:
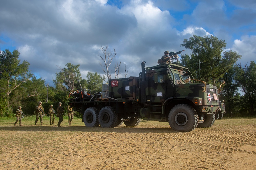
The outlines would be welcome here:
M 184 39 L 180 46 L 190 49 L 192 54 L 182 55 L 181 65 L 189 68 L 197 80 L 221 86 L 220 100 L 225 101 L 224 116 L 255 116 L 256 64 L 241 64 L 242 57 L 236 51 L 225 51 L 226 43 L 214 36 L 196 36 Z M 247 57 L 247 56 L 244 56 Z M 200 66 L 200 67 L 199 67 Z

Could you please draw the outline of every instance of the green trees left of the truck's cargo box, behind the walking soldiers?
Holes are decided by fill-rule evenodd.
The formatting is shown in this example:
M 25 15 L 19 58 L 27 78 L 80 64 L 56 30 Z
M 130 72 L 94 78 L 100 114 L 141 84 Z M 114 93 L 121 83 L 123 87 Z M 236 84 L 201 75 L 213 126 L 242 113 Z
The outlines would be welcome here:
M 56 73 L 56 78 L 53 79 L 55 87 L 49 86 L 49 83 L 46 84 L 45 80 L 37 78 L 32 70 L 29 70 L 29 62 L 20 61 L 19 55 L 18 50 L 11 53 L 5 49 L 0 53 L 0 116 L 13 116 L 18 106 L 22 106 L 26 115 L 34 115 L 38 101 L 43 102 L 44 108 L 49 108 L 52 104 L 55 109 L 61 101 L 62 106 L 66 108 L 69 90 L 102 90 L 104 76 L 97 72 L 88 72 L 87 80 L 82 79 L 79 64 L 72 63 L 67 63 L 65 68 L 59 67 L 60 72 Z M 77 117 L 81 117 L 77 114 Z

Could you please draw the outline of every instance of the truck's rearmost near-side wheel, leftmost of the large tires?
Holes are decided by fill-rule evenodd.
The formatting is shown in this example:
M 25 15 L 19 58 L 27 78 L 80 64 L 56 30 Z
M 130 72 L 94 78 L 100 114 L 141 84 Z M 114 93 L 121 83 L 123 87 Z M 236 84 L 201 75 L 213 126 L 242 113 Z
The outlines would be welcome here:
M 99 110 L 94 107 L 87 108 L 83 114 L 83 121 L 86 127 L 98 127 L 99 124 Z

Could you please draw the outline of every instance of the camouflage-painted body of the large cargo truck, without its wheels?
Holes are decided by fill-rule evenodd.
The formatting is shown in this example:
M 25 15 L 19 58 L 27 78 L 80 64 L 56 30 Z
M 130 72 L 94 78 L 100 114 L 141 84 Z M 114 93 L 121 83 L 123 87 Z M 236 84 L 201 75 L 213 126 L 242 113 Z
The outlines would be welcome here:
M 144 67 L 142 65 L 142 70 Z M 169 63 L 146 67 L 145 72 L 145 79 L 140 73 L 138 77 L 109 80 L 105 99 L 71 99 L 69 103 L 73 110 L 81 113 L 89 107 L 112 106 L 124 119 L 137 116 L 158 121 L 168 121 L 170 109 L 179 102 L 189 104 L 197 114 L 213 114 L 219 110 L 217 87 L 206 84 L 206 91 L 203 91 L 205 84 L 196 84 L 193 80 L 185 83 L 187 78 L 194 79 L 187 68 Z

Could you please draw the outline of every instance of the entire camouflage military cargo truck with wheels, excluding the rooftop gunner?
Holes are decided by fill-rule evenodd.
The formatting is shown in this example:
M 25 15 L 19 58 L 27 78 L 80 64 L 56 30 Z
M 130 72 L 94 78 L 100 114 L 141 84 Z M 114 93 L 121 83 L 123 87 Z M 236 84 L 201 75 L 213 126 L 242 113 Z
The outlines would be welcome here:
M 86 127 L 137 126 L 141 119 L 169 122 L 175 131 L 211 127 L 220 110 L 218 89 L 176 64 L 146 67 L 138 77 L 112 79 L 101 92 L 71 90 L 69 103 Z M 198 81 L 199 83 L 195 83 Z

